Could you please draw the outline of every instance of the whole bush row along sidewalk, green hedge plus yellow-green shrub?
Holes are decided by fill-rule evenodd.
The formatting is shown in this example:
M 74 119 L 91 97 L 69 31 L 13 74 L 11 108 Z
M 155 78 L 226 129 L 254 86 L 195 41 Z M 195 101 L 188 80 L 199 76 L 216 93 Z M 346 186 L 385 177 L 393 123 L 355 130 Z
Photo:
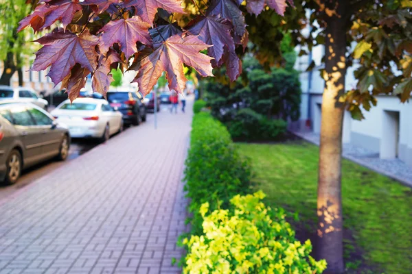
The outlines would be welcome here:
M 185 168 L 192 231 L 183 244 L 183 273 L 321 273 L 325 262 L 295 240 L 281 208 L 251 194 L 251 165 L 227 128 L 209 113 L 195 114 Z

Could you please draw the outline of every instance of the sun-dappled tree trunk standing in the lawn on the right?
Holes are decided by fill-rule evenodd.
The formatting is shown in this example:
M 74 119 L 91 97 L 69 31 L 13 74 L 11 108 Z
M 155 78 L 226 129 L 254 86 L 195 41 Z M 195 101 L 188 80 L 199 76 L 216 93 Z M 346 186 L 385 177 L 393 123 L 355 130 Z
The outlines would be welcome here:
M 330 1 L 338 15 L 325 29 L 325 90 L 322 101 L 321 145 L 317 197 L 317 257 L 328 262 L 325 273 L 343 273 L 341 201 L 342 126 L 345 112 L 337 98 L 345 92 L 346 0 Z M 337 4 L 337 5 L 335 5 Z

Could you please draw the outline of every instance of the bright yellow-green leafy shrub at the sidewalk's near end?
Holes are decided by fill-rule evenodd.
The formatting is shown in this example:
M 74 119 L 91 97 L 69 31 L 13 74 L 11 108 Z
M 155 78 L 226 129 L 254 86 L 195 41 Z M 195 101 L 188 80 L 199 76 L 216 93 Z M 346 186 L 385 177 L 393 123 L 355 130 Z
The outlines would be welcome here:
M 183 273 L 322 273 L 326 262 L 310 255 L 312 245 L 295 239 L 284 210 L 264 206 L 263 192 L 236 195 L 227 210 L 203 203 L 203 235 L 183 240 Z

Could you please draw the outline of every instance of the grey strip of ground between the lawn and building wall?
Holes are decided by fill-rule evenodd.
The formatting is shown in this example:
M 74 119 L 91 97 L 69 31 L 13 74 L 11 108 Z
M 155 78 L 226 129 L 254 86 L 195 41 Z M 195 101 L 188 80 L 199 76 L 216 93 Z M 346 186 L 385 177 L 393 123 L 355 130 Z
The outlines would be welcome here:
M 295 134 L 309 142 L 319 145 L 319 134 L 313 132 L 295 132 Z M 412 167 L 399 159 L 380 159 L 379 151 L 371 151 L 351 144 L 343 144 L 343 157 L 361 164 L 373 171 L 391 177 L 406 186 L 412 187 Z

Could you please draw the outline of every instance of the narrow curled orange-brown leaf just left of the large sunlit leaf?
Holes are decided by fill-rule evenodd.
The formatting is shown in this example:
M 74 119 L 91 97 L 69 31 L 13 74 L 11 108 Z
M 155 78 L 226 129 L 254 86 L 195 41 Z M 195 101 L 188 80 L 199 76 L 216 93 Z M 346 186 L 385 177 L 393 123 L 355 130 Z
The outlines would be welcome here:
M 104 97 L 108 88 L 110 87 L 111 82 L 113 82 L 113 77 L 111 74 L 111 64 L 116 62 L 122 62 L 120 56 L 115 51 L 109 51 L 107 57 L 103 55 L 100 56 L 98 69 L 93 73 L 93 79 L 91 87 L 94 92 L 98 92 Z

